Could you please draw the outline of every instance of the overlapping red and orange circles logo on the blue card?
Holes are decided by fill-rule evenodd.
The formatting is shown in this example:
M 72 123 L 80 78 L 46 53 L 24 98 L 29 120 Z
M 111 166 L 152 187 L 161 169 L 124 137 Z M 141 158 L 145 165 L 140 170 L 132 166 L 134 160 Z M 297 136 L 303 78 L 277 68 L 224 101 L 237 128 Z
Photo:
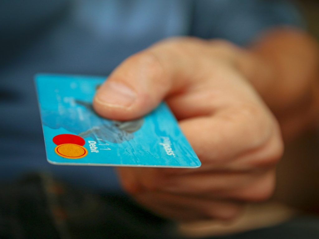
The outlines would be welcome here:
M 63 158 L 78 159 L 87 155 L 87 149 L 83 147 L 85 140 L 75 134 L 58 134 L 53 137 L 57 145 L 54 151 Z

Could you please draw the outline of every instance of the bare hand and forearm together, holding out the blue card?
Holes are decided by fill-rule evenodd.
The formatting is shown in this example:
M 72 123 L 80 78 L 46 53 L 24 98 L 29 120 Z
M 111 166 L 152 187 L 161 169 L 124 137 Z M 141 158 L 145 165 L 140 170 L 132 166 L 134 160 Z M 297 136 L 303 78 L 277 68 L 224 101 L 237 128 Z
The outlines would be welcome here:
M 202 166 L 118 168 L 124 189 L 177 221 L 231 220 L 245 203 L 268 199 L 282 138 L 317 119 L 317 57 L 306 33 L 274 29 L 246 49 L 175 38 L 126 59 L 97 91 L 96 112 L 131 120 L 165 99 Z

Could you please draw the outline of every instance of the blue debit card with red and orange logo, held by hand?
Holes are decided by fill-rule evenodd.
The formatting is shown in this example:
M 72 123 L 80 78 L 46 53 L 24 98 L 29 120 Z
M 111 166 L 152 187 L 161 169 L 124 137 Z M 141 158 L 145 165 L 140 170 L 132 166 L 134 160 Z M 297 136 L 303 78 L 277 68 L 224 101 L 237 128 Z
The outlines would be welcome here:
M 35 77 L 48 162 L 63 165 L 197 168 L 201 162 L 162 102 L 145 117 L 108 120 L 92 108 L 105 77 Z

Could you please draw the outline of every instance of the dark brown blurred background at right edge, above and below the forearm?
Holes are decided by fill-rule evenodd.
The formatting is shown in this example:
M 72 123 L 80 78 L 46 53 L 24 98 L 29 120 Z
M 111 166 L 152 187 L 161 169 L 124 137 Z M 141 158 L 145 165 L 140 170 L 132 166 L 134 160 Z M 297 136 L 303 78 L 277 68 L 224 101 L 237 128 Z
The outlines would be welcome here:
M 319 40 L 319 1 L 298 1 L 308 31 Z M 318 122 L 319 123 L 319 122 Z M 275 198 L 288 205 L 319 213 L 319 136 L 304 135 L 286 146 L 278 165 L 278 187 Z M 313 167 L 317 165 L 317 167 Z

